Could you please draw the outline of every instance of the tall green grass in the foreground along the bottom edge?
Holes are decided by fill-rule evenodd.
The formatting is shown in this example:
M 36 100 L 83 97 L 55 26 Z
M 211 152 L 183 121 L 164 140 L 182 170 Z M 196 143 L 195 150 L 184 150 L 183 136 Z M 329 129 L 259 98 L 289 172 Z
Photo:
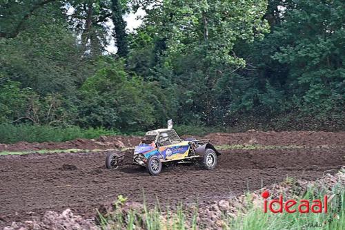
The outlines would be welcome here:
M 336 184 L 331 188 L 333 199 L 328 202 L 328 213 L 264 213 L 262 207 L 255 207 L 253 204 L 246 208 L 243 213 L 237 214 L 237 218 L 230 217 L 224 213 L 220 222 L 222 229 L 228 230 L 343 230 L 345 229 L 345 189 L 344 184 Z M 302 197 L 294 197 L 295 200 L 315 200 L 323 198 L 330 191 L 328 188 L 317 190 L 310 187 Z M 250 197 L 247 197 L 250 200 Z M 180 205 L 175 211 L 164 213 L 156 206 L 148 209 L 144 205 L 144 211 L 121 211 L 121 202 L 115 202 L 115 211 L 110 215 L 103 216 L 99 213 L 101 229 L 204 229 L 204 226 L 197 222 L 197 207 L 186 209 Z M 315 228 L 315 224 L 322 224 L 322 227 Z

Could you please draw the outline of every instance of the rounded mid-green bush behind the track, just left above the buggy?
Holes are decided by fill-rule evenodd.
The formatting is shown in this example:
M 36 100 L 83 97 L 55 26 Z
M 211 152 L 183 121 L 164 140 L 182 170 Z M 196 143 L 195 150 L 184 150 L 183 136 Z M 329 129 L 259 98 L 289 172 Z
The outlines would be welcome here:
M 121 129 L 146 127 L 155 122 L 150 92 L 140 77 L 129 78 L 120 61 L 105 59 L 102 68 L 81 86 L 79 124 Z

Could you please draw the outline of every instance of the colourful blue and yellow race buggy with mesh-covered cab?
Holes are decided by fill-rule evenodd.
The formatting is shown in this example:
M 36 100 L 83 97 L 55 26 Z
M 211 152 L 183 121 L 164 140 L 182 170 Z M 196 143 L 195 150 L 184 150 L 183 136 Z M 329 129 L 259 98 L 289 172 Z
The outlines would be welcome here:
M 135 146 L 133 162 L 145 166 L 150 175 L 158 175 L 163 164 L 195 163 L 212 170 L 217 165 L 220 153 L 210 144 L 210 140 L 181 140 L 172 128 L 148 131 L 138 146 Z M 126 165 L 124 155 L 108 153 L 106 167 L 118 169 Z

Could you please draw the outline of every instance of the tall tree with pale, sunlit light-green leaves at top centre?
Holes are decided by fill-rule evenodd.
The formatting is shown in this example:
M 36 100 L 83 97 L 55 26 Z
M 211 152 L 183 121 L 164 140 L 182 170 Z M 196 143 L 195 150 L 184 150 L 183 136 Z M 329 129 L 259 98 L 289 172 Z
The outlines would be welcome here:
M 215 122 L 217 81 L 244 66 L 233 47 L 239 40 L 253 41 L 267 32 L 265 11 L 266 1 L 217 0 L 164 1 L 148 10 L 138 35 L 146 32 L 155 44 L 158 58 L 152 79 L 166 82 L 163 87 L 184 86 L 182 120 L 199 117 L 207 124 Z

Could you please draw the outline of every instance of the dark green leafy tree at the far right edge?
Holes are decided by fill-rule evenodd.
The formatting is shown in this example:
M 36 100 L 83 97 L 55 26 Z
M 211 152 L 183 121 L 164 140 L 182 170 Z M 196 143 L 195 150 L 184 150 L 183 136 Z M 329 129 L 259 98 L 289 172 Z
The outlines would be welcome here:
M 288 90 L 309 115 L 338 117 L 344 106 L 344 1 L 294 1 L 273 33 L 273 59 L 288 66 Z M 292 95 L 291 95 L 292 96 Z

